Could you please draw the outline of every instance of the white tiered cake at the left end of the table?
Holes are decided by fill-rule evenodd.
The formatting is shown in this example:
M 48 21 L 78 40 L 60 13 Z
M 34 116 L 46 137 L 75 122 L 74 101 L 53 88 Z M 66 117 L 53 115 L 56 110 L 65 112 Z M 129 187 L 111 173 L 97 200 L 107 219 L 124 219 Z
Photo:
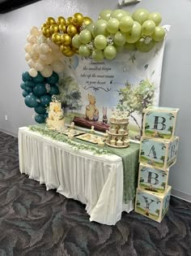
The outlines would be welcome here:
M 61 102 L 49 103 L 49 117 L 46 119 L 46 124 L 49 128 L 53 128 L 57 131 L 64 130 L 65 119 Z

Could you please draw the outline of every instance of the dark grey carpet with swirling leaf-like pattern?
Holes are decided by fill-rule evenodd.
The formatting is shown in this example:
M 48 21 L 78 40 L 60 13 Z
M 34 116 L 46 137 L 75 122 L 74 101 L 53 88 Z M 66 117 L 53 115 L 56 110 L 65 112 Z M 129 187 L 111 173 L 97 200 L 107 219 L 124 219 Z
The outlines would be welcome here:
M 191 203 L 171 198 L 162 223 L 135 212 L 115 226 L 19 173 L 18 141 L 0 132 L 0 256 L 191 255 Z

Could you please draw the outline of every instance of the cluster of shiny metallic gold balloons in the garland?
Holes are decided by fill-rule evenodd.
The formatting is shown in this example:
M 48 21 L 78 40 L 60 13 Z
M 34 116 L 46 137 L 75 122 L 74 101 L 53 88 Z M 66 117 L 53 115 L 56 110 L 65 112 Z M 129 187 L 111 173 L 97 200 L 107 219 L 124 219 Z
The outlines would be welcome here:
M 91 22 L 89 17 L 83 17 L 81 13 L 75 13 L 67 19 L 62 16 L 57 17 L 57 20 L 48 17 L 45 24 L 41 25 L 41 31 L 45 37 L 51 38 L 53 43 L 59 46 L 62 54 L 71 57 L 79 53 L 77 47 L 72 44 L 73 37 Z

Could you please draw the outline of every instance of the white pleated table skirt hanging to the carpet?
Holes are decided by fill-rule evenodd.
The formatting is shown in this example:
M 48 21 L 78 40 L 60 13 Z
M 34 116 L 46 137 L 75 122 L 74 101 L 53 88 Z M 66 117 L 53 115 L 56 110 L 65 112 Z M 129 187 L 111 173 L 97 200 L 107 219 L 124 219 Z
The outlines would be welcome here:
M 19 168 L 47 190 L 57 189 L 86 204 L 90 221 L 114 225 L 123 210 L 134 209 L 132 201 L 123 203 L 123 164 L 115 154 L 74 150 L 23 127 L 19 128 Z

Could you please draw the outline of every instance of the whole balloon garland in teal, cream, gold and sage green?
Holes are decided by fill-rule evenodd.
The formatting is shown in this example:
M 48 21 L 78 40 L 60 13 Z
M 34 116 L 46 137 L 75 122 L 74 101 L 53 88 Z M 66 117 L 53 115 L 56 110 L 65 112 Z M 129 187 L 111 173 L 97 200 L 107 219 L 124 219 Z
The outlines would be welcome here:
M 79 54 L 95 61 L 114 59 L 121 50 L 148 52 L 163 41 L 165 30 L 158 12 L 138 9 L 131 15 L 121 9 L 101 11 L 98 20 L 75 13 L 65 19 L 48 17 L 38 29 L 33 26 L 25 46 L 30 67 L 23 72 L 24 102 L 36 111 L 36 122 L 44 123 L 51 96 L 59 94 L 57 74 L 64 71 L 63 55 Z

